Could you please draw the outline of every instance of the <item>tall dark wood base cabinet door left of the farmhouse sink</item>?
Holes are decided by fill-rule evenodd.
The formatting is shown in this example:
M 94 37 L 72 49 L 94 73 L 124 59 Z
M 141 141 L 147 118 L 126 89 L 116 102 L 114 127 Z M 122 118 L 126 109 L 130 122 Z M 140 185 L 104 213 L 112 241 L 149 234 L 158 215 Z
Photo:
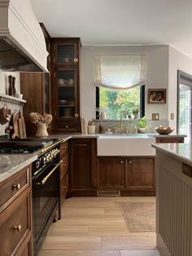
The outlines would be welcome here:
M 91 187 L 91 140 L 72 141 L 72 188 Z

